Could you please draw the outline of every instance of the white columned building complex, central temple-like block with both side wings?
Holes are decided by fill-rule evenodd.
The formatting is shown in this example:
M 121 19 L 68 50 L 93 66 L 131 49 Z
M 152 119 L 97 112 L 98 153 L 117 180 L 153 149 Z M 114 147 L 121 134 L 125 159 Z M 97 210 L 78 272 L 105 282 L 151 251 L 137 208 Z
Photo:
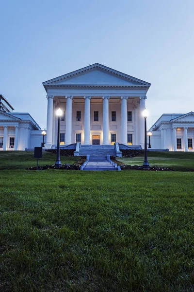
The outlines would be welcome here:
M 146 95 L 150 83 L 93 64 L 43 82 L 47 92 L 46 148 L 57 144 L 56 110 L 61 108 L 60 144 L 144 148 Z M 42 134 L 29 113 L 15 113 L 0 95 L 0 150 L 41 146 Z M 151 149 L 194 150 L 194 112 L 162 114 L 150 128 Z M 148 142 L 148 140 L 147 140 Z

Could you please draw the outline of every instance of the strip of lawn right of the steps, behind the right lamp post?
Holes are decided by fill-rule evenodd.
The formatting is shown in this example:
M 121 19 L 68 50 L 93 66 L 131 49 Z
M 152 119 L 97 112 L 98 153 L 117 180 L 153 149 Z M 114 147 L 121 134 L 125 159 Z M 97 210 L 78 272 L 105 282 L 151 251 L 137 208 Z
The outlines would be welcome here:
M 194 152 L 147 152 L 148 162 L 151 166 L 163 166 L 176 170 L 194 171 Z M 119 162 L 131 165 L 142 165 L 144 154 L 133 158 L 119 158 Z

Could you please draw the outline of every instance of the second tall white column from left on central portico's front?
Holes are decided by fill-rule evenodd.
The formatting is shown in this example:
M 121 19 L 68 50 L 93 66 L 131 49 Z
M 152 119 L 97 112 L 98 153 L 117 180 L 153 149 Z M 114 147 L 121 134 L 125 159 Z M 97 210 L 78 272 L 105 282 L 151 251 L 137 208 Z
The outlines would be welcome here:
M 65 128 L 65 145 L 71 144 L 72 132 L 72 95 L 65 96 L 66 98 L 66 128 Z

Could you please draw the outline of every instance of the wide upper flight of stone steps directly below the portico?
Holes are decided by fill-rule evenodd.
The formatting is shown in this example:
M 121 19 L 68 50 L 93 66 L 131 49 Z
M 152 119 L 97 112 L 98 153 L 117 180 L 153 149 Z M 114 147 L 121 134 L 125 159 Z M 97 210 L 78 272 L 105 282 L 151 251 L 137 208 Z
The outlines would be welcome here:
M 106 157 L 107 155 L 115 156 L 114 145 L 81 145 L 80 156 L 90 155 L 90 157 Z

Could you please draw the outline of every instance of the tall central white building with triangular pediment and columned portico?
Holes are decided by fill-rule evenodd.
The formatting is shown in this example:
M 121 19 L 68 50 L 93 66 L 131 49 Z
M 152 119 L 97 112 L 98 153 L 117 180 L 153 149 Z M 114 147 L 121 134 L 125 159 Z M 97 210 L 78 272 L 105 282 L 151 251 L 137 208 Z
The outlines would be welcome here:
M 57 144 L 56 110 L 63 145 L 144 145 L 146 93 L 150 83 L 93 64 L 43 83 L 47 91 L 47 143 Z

